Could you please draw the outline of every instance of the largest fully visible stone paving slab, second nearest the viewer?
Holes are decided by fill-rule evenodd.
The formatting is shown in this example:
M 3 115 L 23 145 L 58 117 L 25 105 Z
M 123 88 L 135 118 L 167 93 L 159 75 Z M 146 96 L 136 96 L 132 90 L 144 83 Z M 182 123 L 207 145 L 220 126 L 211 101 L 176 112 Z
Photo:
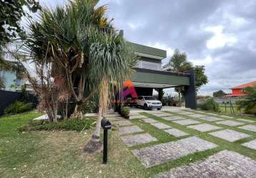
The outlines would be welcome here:
M 200 137 L 188 137 L 174 142 L 162 143 L 139 150 L 132 150 L 133 154 L 145 167 L 152 167 L 170 160 L 202 152 L 217 147 L 212 142 L 200 139 Z

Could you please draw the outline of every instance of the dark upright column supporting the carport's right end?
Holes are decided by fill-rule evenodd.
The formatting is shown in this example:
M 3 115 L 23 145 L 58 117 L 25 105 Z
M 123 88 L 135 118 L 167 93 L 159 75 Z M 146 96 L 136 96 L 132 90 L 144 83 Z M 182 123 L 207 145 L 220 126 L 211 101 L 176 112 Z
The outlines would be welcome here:
M 189 70 L 189 86 L 184 86 L 185 107 L 192 110 L 197 109 L 197 100 L 195 92 L 195 70 Z

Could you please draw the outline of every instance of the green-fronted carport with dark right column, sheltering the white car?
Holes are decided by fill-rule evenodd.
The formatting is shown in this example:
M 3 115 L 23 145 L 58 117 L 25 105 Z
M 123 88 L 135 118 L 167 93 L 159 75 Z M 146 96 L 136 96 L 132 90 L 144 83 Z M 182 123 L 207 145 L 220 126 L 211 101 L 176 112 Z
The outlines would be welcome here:
M 136 72 L 132 75 L 132 83 L 135 86 L 137 95 L 153 95 L 153 89 L 163 90 L 164 88 L 173 88 L 184 86 L 185 89 L 185 107 L 196 109 L 195 97 L 195 72 L 172 73 L 162 70 L 150 70 L 146 68 L 135 68 Z M 159 100 L 162 96 L 159 95 Z

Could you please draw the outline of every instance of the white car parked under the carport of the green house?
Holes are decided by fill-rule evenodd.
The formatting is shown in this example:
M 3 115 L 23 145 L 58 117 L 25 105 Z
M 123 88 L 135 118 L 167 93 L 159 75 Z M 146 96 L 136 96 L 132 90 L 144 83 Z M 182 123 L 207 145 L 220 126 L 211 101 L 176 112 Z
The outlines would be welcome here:
M 156 100 L 152 96 L 139 96 L 136 99 L 137 107 L 143 107 L 145 110 L 152 110 L 153 108 L 157 108 L 157 110 L 161 110 L 162 103 L 159 100 Z

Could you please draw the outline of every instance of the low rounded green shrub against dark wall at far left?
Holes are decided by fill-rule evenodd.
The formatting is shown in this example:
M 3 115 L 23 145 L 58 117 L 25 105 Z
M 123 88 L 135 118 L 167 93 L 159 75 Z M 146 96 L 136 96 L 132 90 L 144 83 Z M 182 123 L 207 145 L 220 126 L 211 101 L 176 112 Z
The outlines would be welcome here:
M 12 103 L 7 108 L 4 109 L 4 114 L 18 114 L 21 112 L 27 112 L 34 108 L 34 105 L 32 103 L 23 103 L 20 101 L 16 101 L 15 103 Z

